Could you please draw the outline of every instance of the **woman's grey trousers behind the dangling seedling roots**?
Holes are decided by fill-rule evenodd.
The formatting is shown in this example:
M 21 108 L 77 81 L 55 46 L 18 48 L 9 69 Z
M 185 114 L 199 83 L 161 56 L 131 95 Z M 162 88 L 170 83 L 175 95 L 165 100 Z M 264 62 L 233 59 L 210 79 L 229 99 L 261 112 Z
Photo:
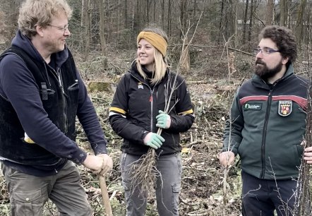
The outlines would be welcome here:
M 126 215 L 145 215 L 148 191 L 142 191 L 140 184 L 131 181 L 129 169 L 133 162 L 140 159 L 140 156 L 123 153 L 121 155 L 120 167 L 122 184 L 126 197 Z M 181 191 L 181 156 L 179 153 L 172 155 L 162 155 L 157 158 L 158 171 L 160 176 L 156 180 L 156 200 L 157 211 L 161 216 L 179 215 L 179 193 Z

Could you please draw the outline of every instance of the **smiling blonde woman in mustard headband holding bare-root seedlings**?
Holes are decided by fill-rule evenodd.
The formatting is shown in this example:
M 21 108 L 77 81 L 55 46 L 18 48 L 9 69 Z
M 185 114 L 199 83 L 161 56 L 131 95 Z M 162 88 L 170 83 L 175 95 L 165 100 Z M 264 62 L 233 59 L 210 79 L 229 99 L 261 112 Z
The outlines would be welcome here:
M 148 191 L 133 185 L 128 170 L 133 162 L 154 148 L 157 155 L 156 197 L 159 215 L 179 215 L 181 145 L 179 133 L 191 128 L 194 116 L 186 83 L 169 71 L 167 35 L 160 28 L 145 28 L 137 38 L 137 58 L 120 80 L 110 108 L 109 122 L 124 138 L 121 174 L 128 216 L 145 215 Z M 170 112 L 164 113 L 166 100 Z M 162 128 L 161 135 L 157 129 Z

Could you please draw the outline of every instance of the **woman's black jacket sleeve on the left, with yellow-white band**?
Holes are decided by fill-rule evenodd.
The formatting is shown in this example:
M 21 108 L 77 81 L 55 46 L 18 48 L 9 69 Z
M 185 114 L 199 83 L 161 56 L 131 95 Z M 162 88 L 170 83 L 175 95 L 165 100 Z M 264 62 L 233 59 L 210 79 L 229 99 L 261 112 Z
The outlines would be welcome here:
M 122 138 L 143 145 L 143 138 L 148 131 L 133 124 L 126 118 L 128 114 L 128 79 L 128 74 L 125 74 L 117 85 L 114 99 L 109 108 L 109 123 L 113 130 Z

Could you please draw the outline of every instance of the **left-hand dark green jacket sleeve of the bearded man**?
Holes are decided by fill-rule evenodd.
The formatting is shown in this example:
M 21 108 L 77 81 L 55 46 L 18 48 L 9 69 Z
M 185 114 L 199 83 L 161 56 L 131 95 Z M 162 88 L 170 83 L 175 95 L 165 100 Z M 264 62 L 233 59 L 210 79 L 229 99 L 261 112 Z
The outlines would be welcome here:
M 229 119 L 227 119 L 224 127 L 223 148 L 224 151 L 232 151 L 237 155 L 239 145 L 241 144 L 241 131 L 244 128 L 244 116 L 239 104 L 238 92 L 234 97 L 231 107 Z

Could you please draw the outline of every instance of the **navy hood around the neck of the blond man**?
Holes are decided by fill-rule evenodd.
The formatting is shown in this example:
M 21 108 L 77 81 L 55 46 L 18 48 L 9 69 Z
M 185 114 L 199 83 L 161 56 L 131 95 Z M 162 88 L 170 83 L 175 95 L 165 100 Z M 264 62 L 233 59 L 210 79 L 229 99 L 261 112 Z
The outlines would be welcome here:
M 20 49 L 23 49 L 24 52 L 32 56 L 35 60 L 37 61 L 44 61 L 42 58 L 41 54 L 37 51 L 37 49 L 34 47 L 30 39 L 23 35 L 20 30 L 17 31 L 16 36 L 12 40 L 12 45 L 19 47 Z M 56 60 L 56 65 L 61 66 L 66 59 L 68 58 L 68 49 L 65 47 L 64 50 L 57 52 L 55 54 L 55 60 Z

